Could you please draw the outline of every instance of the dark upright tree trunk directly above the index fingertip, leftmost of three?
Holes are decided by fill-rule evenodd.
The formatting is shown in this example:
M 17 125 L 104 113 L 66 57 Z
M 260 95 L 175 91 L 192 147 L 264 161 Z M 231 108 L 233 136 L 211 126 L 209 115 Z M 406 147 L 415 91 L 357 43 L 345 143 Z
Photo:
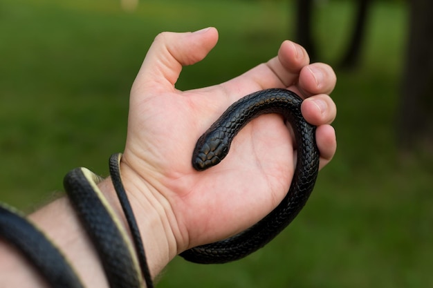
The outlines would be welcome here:
M 315 46 L 312 35 L 312 17 L 313 17 L 313 0 L 297 0 L 296 1 L 296 41 L 304 46 L 310 59 L 315 59 Z

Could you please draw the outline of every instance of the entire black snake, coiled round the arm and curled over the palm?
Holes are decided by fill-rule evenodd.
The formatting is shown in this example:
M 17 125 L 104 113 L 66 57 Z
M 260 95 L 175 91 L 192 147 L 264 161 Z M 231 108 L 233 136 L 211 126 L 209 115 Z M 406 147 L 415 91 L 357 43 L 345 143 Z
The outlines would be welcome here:
M 275 238 L 304 207 L 317 177 L 319 152 L 315 145 L 315 126 L 308 124 L 302 117 L 301 104 L 302 99 L 289 90 L 261 90 L 232 104 L 199 138 L 192 156 L 192 166 L 202 171 L 223 160 L 233 138 L 248 122 L 265 113 L 279 113 L 293 128 L 297 142 L 297 166 L 284 200 L 264 219 L 231 238 L 188 249 L 181 253 L 183 258 L 199 263 L 223 263 L 243 258 Z M 88 169 L 74 169 L 64 179 L 65 190 L 99 253 L 110 287 L 146 285 L 151 288 L 153 283 L 140 231 L 122 186 L 119 162 L 120 155 L 111 157 L 110 173 L 133 242 L 98 189 L 100 177 Z M 55 245 L 23 215 L 6 206 L 0 206 L 0 236 L 15 244 L 52 287 L 82 287 L 74 270 Z M 64 285 L 65 281 L 68 285 Z

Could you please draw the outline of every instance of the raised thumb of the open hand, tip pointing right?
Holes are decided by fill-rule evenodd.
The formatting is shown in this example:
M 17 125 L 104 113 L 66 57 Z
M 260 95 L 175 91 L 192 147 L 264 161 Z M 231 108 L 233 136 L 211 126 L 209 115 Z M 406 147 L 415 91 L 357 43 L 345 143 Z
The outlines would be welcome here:
M 132 86 L 134 93 L 172 91 L 182 66 L 201 61 L 216 45 L 218 32 L 205 28 L 196 32 L 162 32 L 151 44 Z

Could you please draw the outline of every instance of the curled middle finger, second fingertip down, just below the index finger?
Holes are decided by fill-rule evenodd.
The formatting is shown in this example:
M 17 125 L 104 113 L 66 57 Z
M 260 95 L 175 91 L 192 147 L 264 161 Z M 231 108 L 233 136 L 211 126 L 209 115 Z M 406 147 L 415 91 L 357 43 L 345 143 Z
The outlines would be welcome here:
M 301 69 L 296 86 L 304 97 L 310 97 L 316 94 L 331 94 L 336 82 L 337 77 L 331 66 L 314 63 Z

